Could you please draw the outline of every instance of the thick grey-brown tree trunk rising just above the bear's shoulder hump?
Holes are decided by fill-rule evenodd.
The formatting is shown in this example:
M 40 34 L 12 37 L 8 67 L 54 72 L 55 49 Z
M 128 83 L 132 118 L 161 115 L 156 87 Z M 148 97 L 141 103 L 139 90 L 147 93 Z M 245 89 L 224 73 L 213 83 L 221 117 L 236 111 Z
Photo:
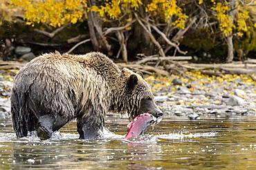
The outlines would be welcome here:
M 89 0 L 88 7 L 96 6 L 97 1 Z M 93 44 L 93 50 L 102 51 L 107 50 L 109 55 L 111 55 L 111 45 L 107 42 L 107 40 L 103 36 L 102 32 L 102 21 L 97 13 L 88 11 L 87 12 L 89 31 L 91 36 L 91 43 Z

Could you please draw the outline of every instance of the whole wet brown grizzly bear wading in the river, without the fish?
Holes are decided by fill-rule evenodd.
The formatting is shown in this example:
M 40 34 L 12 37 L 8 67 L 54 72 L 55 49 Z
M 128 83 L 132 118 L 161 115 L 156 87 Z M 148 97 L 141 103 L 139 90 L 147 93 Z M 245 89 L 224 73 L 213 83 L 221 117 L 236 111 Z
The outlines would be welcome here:
M 143 113 L 163 115 L 143 77 L 119 70 L 100 52 L 38 56 L 15 76 L 10 100 L 17 138 L 37 130 L 48 139 L 76 118 L 80 139 L 91 140 L 108 111 L 127 112 L 130 120 Z

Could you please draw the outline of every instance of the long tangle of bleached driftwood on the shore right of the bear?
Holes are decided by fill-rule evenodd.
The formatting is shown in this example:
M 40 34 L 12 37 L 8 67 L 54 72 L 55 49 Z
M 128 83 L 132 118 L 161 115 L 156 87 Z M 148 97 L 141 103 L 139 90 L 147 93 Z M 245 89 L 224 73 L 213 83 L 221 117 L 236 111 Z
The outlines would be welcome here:
M 138 56 L 144 56 L 143 54 L 138 54 Z M 145 70 L 147 72 L 156 72 L 157 74 L 167 75 L 169 74 L 182 74 L 183 76 L 188 76 L 185 74 L 188 70 L 201 70 L 201 74 L 207 74 L 209 76 L 220 76 L 223 74 L 253 74 L 256 73 L 256 64 L 253 64 L 256 60 L 248 59 L 245 63 L 233 62 L 233 63 L 223 63 L 223 64 L 197 64 L 188 63 L 192 59 L 192 56 L 144 56 L 144 59 L 130 63 L 128 65 L 122 64 L 122 67 L 129 67 L 131 69 L 135 68 L 137 70 Z M 252 63 L 249 63 L 252 61 Z M 208 71 L 211 70 L 222 70 L 222 72 Z M 165 72 L 161 72 L 164 70 Z M 190 78 L 190 76 L 188 76 Z M 253 79 L 253 77 L 251 77 Z M 254 80 L 254 79 L 253 79 Z M 255 77 L 256 81 L 256 77 Z

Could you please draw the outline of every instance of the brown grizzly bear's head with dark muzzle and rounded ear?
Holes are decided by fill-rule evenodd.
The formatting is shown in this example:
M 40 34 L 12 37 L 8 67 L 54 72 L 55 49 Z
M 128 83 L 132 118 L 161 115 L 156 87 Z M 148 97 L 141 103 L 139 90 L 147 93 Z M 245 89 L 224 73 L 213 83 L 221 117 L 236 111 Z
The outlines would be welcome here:
M 143 79 L 142 73 L 134 73 L 131 70 L 123 69 L 123 78 L 125 78 L 125 96 L 123 100 L 127 103 L 127 112 L 129 119 L 133 120 L 136 116 L 149 113 L 156 118 L 163 116 L 163 112 L 154 102 L 154 96 L 149 85 Z

